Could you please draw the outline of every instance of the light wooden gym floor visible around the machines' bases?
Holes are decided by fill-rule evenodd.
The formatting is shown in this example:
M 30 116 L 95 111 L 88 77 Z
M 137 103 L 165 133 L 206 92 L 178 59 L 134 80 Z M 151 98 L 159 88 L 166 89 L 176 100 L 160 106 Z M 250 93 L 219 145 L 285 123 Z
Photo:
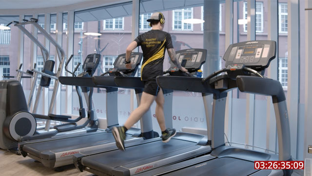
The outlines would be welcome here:
M 62 172 L 44 167 L 30 157 L 22 157 L 0 149 L 1 176 L 94 176 L 89 172 L 80 172 L 74 165 L 67 166 Z M 302 170 L 296 170 L 292 176 L 303 176 Z

